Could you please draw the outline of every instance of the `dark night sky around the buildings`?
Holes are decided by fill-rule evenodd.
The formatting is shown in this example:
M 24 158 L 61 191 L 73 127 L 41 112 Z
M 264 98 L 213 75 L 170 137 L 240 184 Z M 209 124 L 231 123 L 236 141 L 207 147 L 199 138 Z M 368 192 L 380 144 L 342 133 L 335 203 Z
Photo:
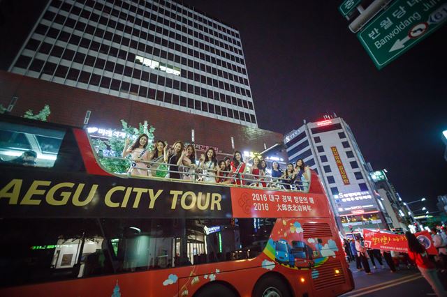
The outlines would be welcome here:
M 45 1 L 0 3 L 5 70 Z M 447 194 L 445 24 L 377 70 L 337 10 L 342 0 L 184 3 L 240 31 L 260 128 L 286 133 L 335 112 L 365 160 L 388 170 L 404 201 L 427 197 L 429 210 L 437 210 L 437 195 Z

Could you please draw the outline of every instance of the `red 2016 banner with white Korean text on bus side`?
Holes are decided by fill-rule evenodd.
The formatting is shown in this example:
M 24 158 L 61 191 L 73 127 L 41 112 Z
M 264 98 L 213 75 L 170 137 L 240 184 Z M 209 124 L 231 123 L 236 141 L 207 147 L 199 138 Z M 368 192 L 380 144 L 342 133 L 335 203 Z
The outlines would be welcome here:
M 325 195 L 301 192 L 231 188 L 236 218 L 328 218 Z

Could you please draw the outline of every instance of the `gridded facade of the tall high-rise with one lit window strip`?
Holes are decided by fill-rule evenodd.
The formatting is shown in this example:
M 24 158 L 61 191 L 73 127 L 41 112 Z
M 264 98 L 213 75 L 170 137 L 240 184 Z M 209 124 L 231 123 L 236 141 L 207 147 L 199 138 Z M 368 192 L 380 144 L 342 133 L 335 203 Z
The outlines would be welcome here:
M 48 1 L 9 71 L 258 127 L 239 31 L 170 0 Z

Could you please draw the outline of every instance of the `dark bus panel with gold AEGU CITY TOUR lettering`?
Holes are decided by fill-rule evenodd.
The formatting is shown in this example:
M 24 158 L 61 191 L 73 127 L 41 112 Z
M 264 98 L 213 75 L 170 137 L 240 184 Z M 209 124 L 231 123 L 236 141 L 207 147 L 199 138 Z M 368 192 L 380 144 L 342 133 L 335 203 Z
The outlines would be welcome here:
M 0 173 L 1 217 L 230 218 L 230 189 L 175 181 L 15 170 Z

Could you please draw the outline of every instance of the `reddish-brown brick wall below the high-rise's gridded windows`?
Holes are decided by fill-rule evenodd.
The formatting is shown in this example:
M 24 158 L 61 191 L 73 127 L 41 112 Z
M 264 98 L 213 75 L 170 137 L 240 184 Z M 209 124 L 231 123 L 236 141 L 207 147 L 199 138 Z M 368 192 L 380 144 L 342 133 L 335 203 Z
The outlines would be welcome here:
M 177 139 L 191 141 L 191 129 L 195 130 L 196 144 L 217 146 L 224 153 L 232 153 L 230 137 L 240 151 L 263 151 L 282 141 L 281 133 L 249 128 L 206 116 L 198 116 L 174 109 L 157 107 L 143 102 L 108 96 L 93 91 L 77 89 L 41 79 L 34 79 L 0 71 L 0 104 L 7 107 L 16 96 L 17 103 L 11 112 L 22 116 L 28 109 L 38 112 L 43 105 L 50 105 L 49 121 L 66 125 L 82 126 L 85 112 L 91 110 L 89 126 L 120 128 L 120 119 L 137 126 L 145 120 L 156 128 L 156 139 L 172 144 Z M 286 153 L 279 153 L 287 160 Z

